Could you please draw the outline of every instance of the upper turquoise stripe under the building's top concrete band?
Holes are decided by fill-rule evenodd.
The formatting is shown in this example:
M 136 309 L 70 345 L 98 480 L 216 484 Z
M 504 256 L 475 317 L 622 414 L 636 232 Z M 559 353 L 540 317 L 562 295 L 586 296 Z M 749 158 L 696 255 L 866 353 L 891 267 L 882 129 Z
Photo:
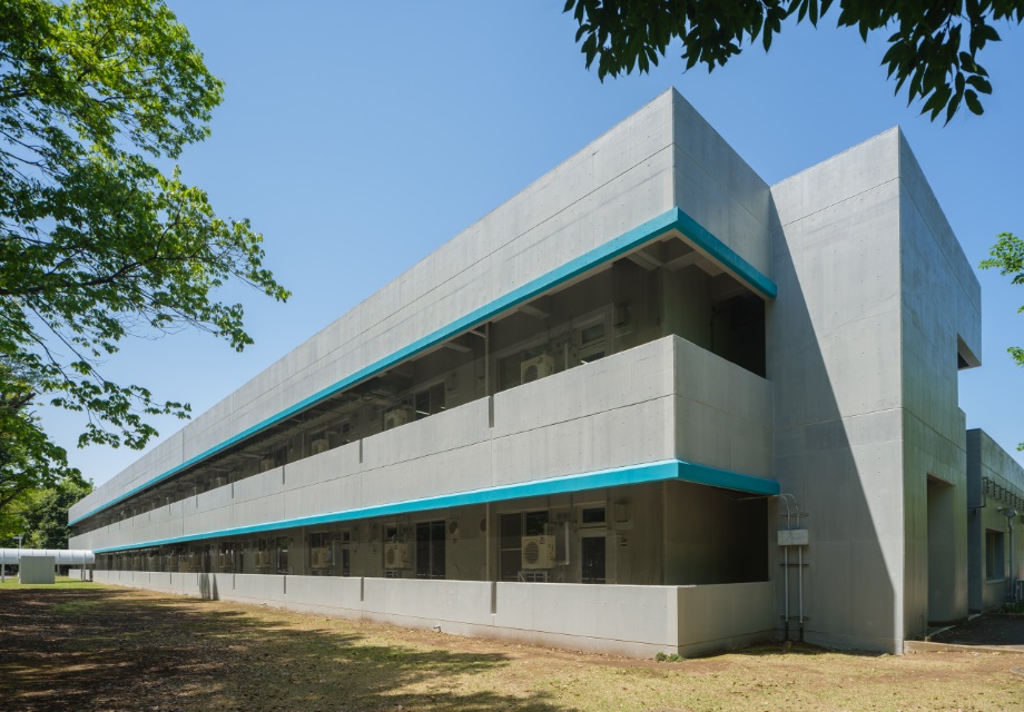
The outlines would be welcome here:
M 68 525 L 70 526 L 77 524 L 78 522 L 81 522 L 82 520 L 90 517 L 93 514 L 102 512 L 104 510 L 108 510 L 114 505 L 135 496 L 144 490 L 148 490 L 152 485 L 158 484 L 168 477 L 173 477 L 184 469 L 187 469 L 193 465 L 203 462 L 204 459 L 207 459 L 234 445 L 237 445 L 242 441 L 252 437 L 257 433 L 260 433 L 274 425 L 277 425 L 278 423 L 288 419 L 299 411 L 304 411 L 322 400 L 325 400 L 326 398 L 329 398 L 333 395 L 336 395 L 342 390 L 345 390 L 346 388 L 351 388 L 352 386 L 375 376 L 382 370 L 387 370 L 388 368 L 397 365 L 400 362 L 410 358 L 411 356 L 415 356 L 416 354 L 432 348 L 443 342 L 446 342 L 447 339 L 461 334 L 462 332 L 465 332 L 466 329 L 480 326 L 481 324 L 491 320 L 505 309 L 510 309 L 512 307 L 519 306 L 520 304 L 529 301 L 534 297 L 538 297 L 548 291 L 549 289 L 569 281 L 570 279 L 582 275 L 593 267 L 617 259 L 626 253 L 633 250 L 637 247 L 644 245 L 653 239 L 657 239 L 658 237 L 661 237 L 671 230 L 679 230 L 686 237 L 692 240 L 695 245 L 720 261 L 722 266 L 736 274 L 740 279 L 746 281 L 749 287 L 751 287 L 762 297 L 770 299 L 776 297 L 778 288 L 774 281 L 759 273 L 752 265 L 750 265 L 750 263 L 733 253 L 728 246 L 726 246 L 725 243 L 711 235 L 711 233 L 699 225 L 693 218 L 688 216 L 679 208 L 672 208 L 671 210 L 659 215 L 657 218 L 648 220 L 643 225 L 636 227 L 628 233 L 623 233 L 619 237 L 609 240 L 608 243 L 604 243 L 600 247 L 595 247 L 589 253 L 585 253 L 575 259 L 569 260 L 561 267 L 552 269 L 548 274 L 528 281 L 522 287 L 513 289 L 509 294 L 499 297 L 491 304 L 484 305 L 479 309 L 474 309 L 464 317 L 456 319 L 447 326 L 443 326 L 432 334 L 429 334 L 427 336 L 413 342 L 408 346 L 398 349 L 394 354 L 385 356 L 384 358 L 364 368 L 361 368 L 351 376 L 342 378 L 337 383 L 327 386 L 323 390 L 313 394 L 308 398 L 299 400 L 295 405 L 285 408 L 280 413 L 272 415 L 267 419 L 257 423 L 256 425 L 238 433 L 237 435 L 233 435 L 219 445 L 215 445 L 208 451 L 185 461 L 180 465 L 171 467 L 164 474 L 158 475 L 152 479 L 137 487 L 134 487 L 132 490 L 129 490 L 125 494 L 111 500 L 107 504 L 96 507 L 88 514 L 83 514 L 68 522 Z

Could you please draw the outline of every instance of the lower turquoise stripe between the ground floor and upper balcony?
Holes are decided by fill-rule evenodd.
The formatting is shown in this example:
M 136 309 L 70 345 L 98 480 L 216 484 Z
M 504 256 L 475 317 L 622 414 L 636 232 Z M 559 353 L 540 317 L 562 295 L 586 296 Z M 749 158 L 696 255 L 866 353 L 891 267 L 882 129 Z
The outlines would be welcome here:
M 107 554 L 110 552 L 128 551 L 132 548 L 149 548 L 152 546 L 183 544 L 185 542 L 196 542 L 206 538 L 244 536 L 246 534 L 259 534 L 262 532 L 289 530 L 299 526 L 334 524 L 337 522 L 365 520 L 368 517 L 412 514 L 415 512 L 426 512 L 430 510 L 461 507 L 493 502 L 506 502 L 509 500 L 522 500 L 524 497 L 568 494 L 570 492 L 603 490 L 605 487 L 622 487 L 624 485 L 639 485 L 650 482 L 667 482 L 672 479 L 680 482 L 691 482 L 701 485 L 710 485 L 712 487 L 721 487 L 723 490 L 738 490 L 739 492 L 750 492 L 752 494 L 777 495 L 780 492 L 779 483 L 774 479 L 765 479 L 764 477 L 756 477 L 754 475 L 744 475 L 736 472 L 729 472 L 728 469 L 719 469 L 717 467 L 709 467 L 708 465 L 698 465 L 696 463 L 688 463 L 681 459 L 666 459 L 657 463 L 632 465 L 630 467 L 618 467 L 616 469 L 603 469 L 600 472 L 591 472 L 581 475 L 567 475 L 564 477 L 553 477 L 550 479 L 535 479 L 533 482 L 524 482 L 514 485 L 502 485 L 500 487 L 488 487 L 485 490 L 472 490 L 469 492 L 446 494 L 436 497 L 424 497 L 421 500 L 407 500 L 405 502 L 396 502 L 393 504 L 381 504 L 372 507 L 362 507 L 358 510 L 345 510 L 342 512 L 332 512 L 329 514 L 317 514 L 315 516 L 304 516 L 294 520 L 282 520 L 279 522 L 266 522 L 264 524 L 254 524 L 252 526 L 237 526 L 234 528 L 204 532 L 201 534 L 188 534 L 187 536 L 176 536 L 173 538 L 156 540 L 152 542 L 127 544 L 125 546 L 110 546 L 107 548 L 97 548 L 93 553 Z

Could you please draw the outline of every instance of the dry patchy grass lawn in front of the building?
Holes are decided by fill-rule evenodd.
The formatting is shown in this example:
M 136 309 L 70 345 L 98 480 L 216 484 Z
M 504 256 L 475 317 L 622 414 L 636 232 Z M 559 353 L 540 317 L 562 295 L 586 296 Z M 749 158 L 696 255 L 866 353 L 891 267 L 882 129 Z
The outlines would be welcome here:
M 1013 653 L 658 663 L 81 582 L 0 587 L 4 710 L 1020 710 Z

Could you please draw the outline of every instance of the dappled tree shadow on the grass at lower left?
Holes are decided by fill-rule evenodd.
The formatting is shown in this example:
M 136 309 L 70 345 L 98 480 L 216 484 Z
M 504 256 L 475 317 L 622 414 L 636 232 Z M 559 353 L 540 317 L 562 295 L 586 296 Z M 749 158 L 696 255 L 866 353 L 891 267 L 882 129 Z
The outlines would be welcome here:
M 0 700 L 27 712 L 569 709 L 544 693 L 480 690 L 473 679 L 505 655 L 381 644 L 345 622 L 322 625 L 115 589 L 4 591 Z

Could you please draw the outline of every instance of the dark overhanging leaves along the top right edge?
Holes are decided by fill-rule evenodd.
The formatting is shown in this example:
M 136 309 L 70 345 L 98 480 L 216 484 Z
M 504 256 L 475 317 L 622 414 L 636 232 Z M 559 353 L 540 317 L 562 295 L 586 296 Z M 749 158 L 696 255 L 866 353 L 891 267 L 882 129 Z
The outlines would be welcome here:
M 993 23 L 1020 24 L 1024 0 L 567 0 L 579 30 L 577 41 L 598 77 L 618 77 L 633 69 L 646 72 L 681 40 L 686 68 L 708 71 L 739 55 L 758 38 L 767 51 L 786 22 L 818 21 L 838 7 L 839 27 L 856 28 L 864 41 L 887 36 L 882 59 L 906 87 L 907 103 L 922 102 L 932 120 L 953 118 L 962 103 L 982 113 L 982 95 L 992 93 L 988 72 L 978 53 L 1000 41 Z

